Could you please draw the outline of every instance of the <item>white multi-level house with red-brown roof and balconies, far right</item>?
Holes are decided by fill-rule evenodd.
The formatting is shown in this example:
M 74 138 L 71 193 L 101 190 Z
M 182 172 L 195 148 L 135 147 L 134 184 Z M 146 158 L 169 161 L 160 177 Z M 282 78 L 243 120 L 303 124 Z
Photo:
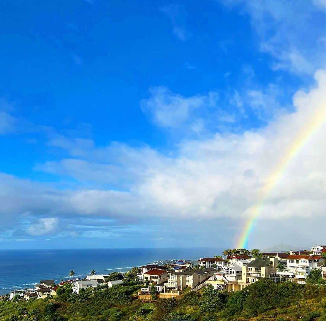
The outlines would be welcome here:
M 325 261 L 325 258 L 316 255 L 289 255 L 286 260 L 287 267 L 278 268 L 276 274 L 297 279 L 298 283 L 305 283 L 310 272 L 319 268 L 318 263 Z

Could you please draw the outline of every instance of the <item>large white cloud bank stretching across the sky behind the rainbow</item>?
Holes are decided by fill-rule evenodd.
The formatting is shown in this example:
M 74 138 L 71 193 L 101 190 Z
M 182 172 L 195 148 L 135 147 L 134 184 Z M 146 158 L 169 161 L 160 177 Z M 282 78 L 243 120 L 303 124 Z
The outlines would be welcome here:
M 247 217 L 266 179 L 316 110 L 323 110 L 325 116 L 326 72 L 318 71 L 315 77 L 318 82 L 315 88 L 308 93 L 299 91 L 295 94 L 293 112 L 278 114 L 266 127 L 239 134 L 216 133 L 202 140 L 184 140 L 173 155 L 162 154 L 147 146 L 132 148 L 119 143 L 97 148 L 90 141 L 61 137 L 52 144 L 79 156 L 46 162 L 38 165 L 38 169 L 77 178 L 81 182 L 79 188 L 58 189 L 54 184 L 2 174 L 0 202 L 3 217 L 16 215 L 20 218 L 20 213 L 25 212 L 39 217 L 39 221 L 28 228 L 32 235 L 40 233 L 38 231 L 51 234 L 58 227 L 58 221 L 44 219 L 44 215 L 49 218 L 67 215 L 113 219 L 226 218 L 230 224 L 237 224 L 239 219 Z M 146 102 L 146 108 L 153 108 L 154 112 L 157 106 L 166 108 L 173 118 L 174 109 L 181 105 L 187 112 L 178 111 L 174 116 L 177 118 L 178 115 L 188 116 L 189 110 L 199 108 L 202 101 L 208 104 L 210 101 L 209 95 L 204 98 L 169 95 L 169 100 L 165 96 L 156 100 L 154 95 L 149 99 L 150 103 Z M 266 99 L 258 93 L 251 96 L 258 106 Z M 173 124 L 170 119 L 157 119 L 165 126 Z M 185 122 L 185 119 L 180 116 L 179 121 Z M 295 222 L 313 219 L 321 225 L 326 223 L 325 135 L 324 123 L 298 148 L 281 180 L 268 195 L 260 219 L 292 218 Z M 119 186 L 120 177 L 130 177 L 123 188 Z M 89 185 L 88 180 L 94 180 L 96 187 Z M 110 188 L 112 184 L 117 186 Z M 277 233 L 285 229 L 286 226 L 280 226 Z M 264 233 L 263 227 L 259 233 Z

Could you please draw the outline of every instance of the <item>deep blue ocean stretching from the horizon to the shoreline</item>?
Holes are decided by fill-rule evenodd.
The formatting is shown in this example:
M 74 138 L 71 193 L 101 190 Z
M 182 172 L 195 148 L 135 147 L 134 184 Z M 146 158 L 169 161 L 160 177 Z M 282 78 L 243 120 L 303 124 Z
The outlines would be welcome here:
M 197 260 L 220 255 L 221 248 L 158 249 L 75 249 L 75 250 L 0 250 L 0 295 L 12 290 L 34 288 L 40 280 L 69 277 L 84 278 L 89 271 L 96 274 L 126 272 L 158 260 Z

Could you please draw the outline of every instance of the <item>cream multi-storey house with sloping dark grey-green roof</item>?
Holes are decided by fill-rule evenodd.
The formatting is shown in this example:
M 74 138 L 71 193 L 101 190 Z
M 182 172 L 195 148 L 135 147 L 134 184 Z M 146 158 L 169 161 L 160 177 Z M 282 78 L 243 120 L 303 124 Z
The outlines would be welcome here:
M 269 278 L 270 273 L 276 272 L 278 258 L 251 258 L 251 262 L 242 267 L 242 281 L 253 283 L 260 278 Z

